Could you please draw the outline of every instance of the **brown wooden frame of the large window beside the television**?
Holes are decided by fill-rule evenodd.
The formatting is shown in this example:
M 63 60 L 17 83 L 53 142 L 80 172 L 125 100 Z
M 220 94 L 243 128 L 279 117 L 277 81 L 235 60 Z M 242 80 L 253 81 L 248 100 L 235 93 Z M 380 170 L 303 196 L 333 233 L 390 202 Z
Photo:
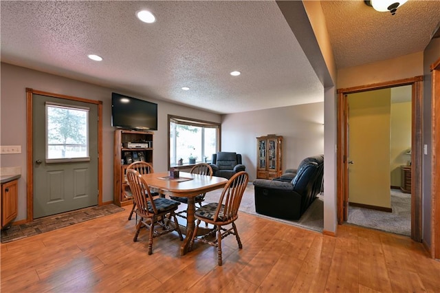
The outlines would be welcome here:
M 167 165 L 168 165 L 168 170 L 170 168 L 176 168 L 176 169 L 187 169 L 190 166 L 193 166 L 194 164 L 183 164 L 183 165 L 176 165 L 176 166 L 171 166 L 170 164 L 170 160 L 171 160 L 171 156 L 170 156 L 170 150 L 172 149 L 171 146 L 171 138 L 170 138 L 170 124 L 171 122 L 178 122 L 178 124 L 184 124 L 184 125 L 189 125 L 189 126 L 193 126 L 193 127 L 210 127 L 210 128 L 216 128 L 217 130 L 217 145 L 216 145 L 216 152 L 220 151 L 220 146 L 221 146 L 221 123 L 220 122 L 212 122 L 212 121 L 206 121 L 206 120 L 198 120 L 198 119 L 194 119 L 194 118 L 187 118 L 187 117 L 182 117 L 182 116 L 175 116 L 175 115 L 170 115 L 168 114 L 168 160 L 167 160 Z M 202 141 L 204 140 L 204 136 L 202 137 Z M 203 145 L 203 143 L 202 143 Z M 206 154 L 205 154 L 206 155 Z

